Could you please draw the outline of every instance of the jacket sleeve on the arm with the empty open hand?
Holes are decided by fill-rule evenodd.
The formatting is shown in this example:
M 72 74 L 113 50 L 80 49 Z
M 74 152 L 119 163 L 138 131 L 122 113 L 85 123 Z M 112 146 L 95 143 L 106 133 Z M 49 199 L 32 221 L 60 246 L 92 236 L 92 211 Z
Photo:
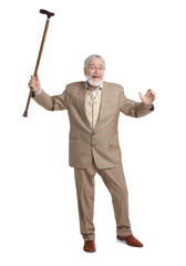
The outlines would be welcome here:
M 132 117 L 142 117 L 152 111 L 154 111 L 154 105 L 152 104 L 152 108 L 148 109 L 143 102 L 135 102 L 133 100 L 130 100 L 124 94 L 124 89 L 121 86 L 120 91 L 120 111 L 126 115 L 130 115 Z

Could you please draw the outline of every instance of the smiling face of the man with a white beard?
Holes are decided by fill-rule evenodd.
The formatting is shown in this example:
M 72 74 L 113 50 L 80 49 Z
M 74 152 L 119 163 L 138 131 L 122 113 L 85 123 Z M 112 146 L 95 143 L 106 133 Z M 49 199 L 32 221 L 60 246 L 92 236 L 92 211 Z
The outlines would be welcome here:
M 93 58 L 89 61 L 87 70 L 84 69 L 87 82 L 92 86 L 99 86 L 104 78 L 104 63 L 100 58 Z

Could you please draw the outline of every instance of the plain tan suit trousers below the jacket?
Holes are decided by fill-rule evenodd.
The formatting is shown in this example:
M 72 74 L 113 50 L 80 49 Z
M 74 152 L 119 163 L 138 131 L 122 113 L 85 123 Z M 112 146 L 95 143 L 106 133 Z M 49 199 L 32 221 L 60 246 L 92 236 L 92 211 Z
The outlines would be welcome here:
M 132 234 L 128 218 L 128 193 L 122 164 L 112 168 L 97 168 L 94 160 L 89 168 L 74 167 L 76 196 L 79 206 L 80 232 L 84 241 L 95 239 L 94 214 L 94 175 L 99 174 L 112 196 L 116 221 L 116 233 L 120 236 Z

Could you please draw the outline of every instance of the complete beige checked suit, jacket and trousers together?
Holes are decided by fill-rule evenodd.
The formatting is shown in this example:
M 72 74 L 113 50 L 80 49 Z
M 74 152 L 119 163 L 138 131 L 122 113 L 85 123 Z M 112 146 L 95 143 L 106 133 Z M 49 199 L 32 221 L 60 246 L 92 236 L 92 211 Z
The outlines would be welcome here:
M 94 175 L 99 173 L 112 195 L 120 236 L 132 234 L 128 218 L 127 187 L 118 143 L 120 111 L 133 117 L 154 110 L 126 99 L 121 85 L 103 82 L 97 122 L 91 126 L 85 112 L 85 82 L 66 85 L 64 92 L 49 96 L 44 91 L 34 100 L 50 111 L 68 110 L 70 119 L 69 164 L 74 167 L 81 234 L 94 241 Z

